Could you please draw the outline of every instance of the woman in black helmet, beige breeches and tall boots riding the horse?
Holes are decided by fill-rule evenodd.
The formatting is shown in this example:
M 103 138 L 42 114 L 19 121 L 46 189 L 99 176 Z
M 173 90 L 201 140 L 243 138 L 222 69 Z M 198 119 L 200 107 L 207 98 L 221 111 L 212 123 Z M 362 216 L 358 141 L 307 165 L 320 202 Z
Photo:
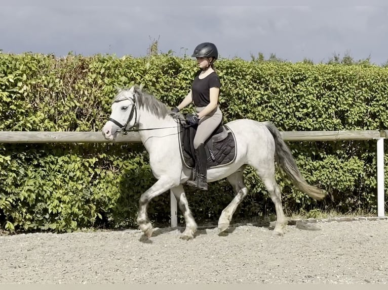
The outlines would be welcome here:
M 198 124 L 193 144 L 196 150 L 197 170 L 193 180 L 187 183 L 202 190 L 208 190 L 207 156 L 204 143 L 222 121 L 222 112 L 218 107 L 221 82 L 214 70 L 214 62 L 218 58 L 217 47 L 211 42 L 200 43 L 191 57 L 197 58 L 200 70 L 192 81 L 189 93 L 172 111 L 179 112 L 191 102 L 196 106 L 196 114 L 187 114 L 187 122 L 190 125 Z

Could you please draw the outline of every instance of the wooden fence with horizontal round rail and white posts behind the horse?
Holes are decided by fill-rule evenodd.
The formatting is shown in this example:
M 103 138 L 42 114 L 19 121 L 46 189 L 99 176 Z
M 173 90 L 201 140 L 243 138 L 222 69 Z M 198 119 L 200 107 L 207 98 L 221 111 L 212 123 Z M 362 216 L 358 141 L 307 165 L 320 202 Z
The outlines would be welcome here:
M 285 141 L 377 140 L 377 216 L 384 217 L 384 139 L 388 130 L 283 131 Z M 101 132 L 0 131 L 0 143 L 106 143 Z M 138 132 L 120 135 L 114 142 L 141 142 Z M 171 226 L 177 226 L 177 203 L 171 196 Z

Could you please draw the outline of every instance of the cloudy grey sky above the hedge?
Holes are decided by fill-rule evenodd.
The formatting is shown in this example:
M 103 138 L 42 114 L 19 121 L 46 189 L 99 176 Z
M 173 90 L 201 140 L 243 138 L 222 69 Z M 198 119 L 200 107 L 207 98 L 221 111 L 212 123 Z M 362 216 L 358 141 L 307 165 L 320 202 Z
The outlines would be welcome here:
M 4 53 L 138 57 L 159 39 L 161 52 L 177 56 L 211 41 L 224 58 L 249 60 L 261 52 L 326 62 L 347 52 L 378 65 L 388 60 L 387 0 L 9 2 L 0 0 Z

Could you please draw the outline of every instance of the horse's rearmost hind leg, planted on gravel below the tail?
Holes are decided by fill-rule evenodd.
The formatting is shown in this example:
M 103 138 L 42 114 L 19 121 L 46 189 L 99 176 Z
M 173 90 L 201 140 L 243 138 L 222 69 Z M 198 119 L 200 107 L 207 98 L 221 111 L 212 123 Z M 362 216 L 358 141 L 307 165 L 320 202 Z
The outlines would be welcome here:
M 266 170 L 263 168 L 265 168 Z M 274 229 L 274 234 L 283 235 L 284 230 L 287 226 L 287 218 L 285 217 L 283 212 L 282 192 L 280 191 L 280 187 L 275 179 L 275 164 L 273 168 L 266 168 L 265 166 L 256 167 L 256 172 L 263 181 L 265 187 L 269 192 L 271 200 L 275 204 L 276 226 Z

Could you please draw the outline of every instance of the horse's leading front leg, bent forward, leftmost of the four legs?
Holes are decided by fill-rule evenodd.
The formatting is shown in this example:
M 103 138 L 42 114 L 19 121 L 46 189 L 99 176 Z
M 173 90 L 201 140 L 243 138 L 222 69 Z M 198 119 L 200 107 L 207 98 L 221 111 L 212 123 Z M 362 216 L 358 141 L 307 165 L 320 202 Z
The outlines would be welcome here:
M 147 216 L 149 202 L 153 198 L 163 194 L 163 192 L 166 192 L 174 185 L 175 184 L 171 179 L 162 177 L 141 195 L 139 200 L 139 213 L 137 215 L 136 221 L 141 231 L 144 232 L 147 237 L 150 237 L 153 231 L 152 225 L 149 222 Z

